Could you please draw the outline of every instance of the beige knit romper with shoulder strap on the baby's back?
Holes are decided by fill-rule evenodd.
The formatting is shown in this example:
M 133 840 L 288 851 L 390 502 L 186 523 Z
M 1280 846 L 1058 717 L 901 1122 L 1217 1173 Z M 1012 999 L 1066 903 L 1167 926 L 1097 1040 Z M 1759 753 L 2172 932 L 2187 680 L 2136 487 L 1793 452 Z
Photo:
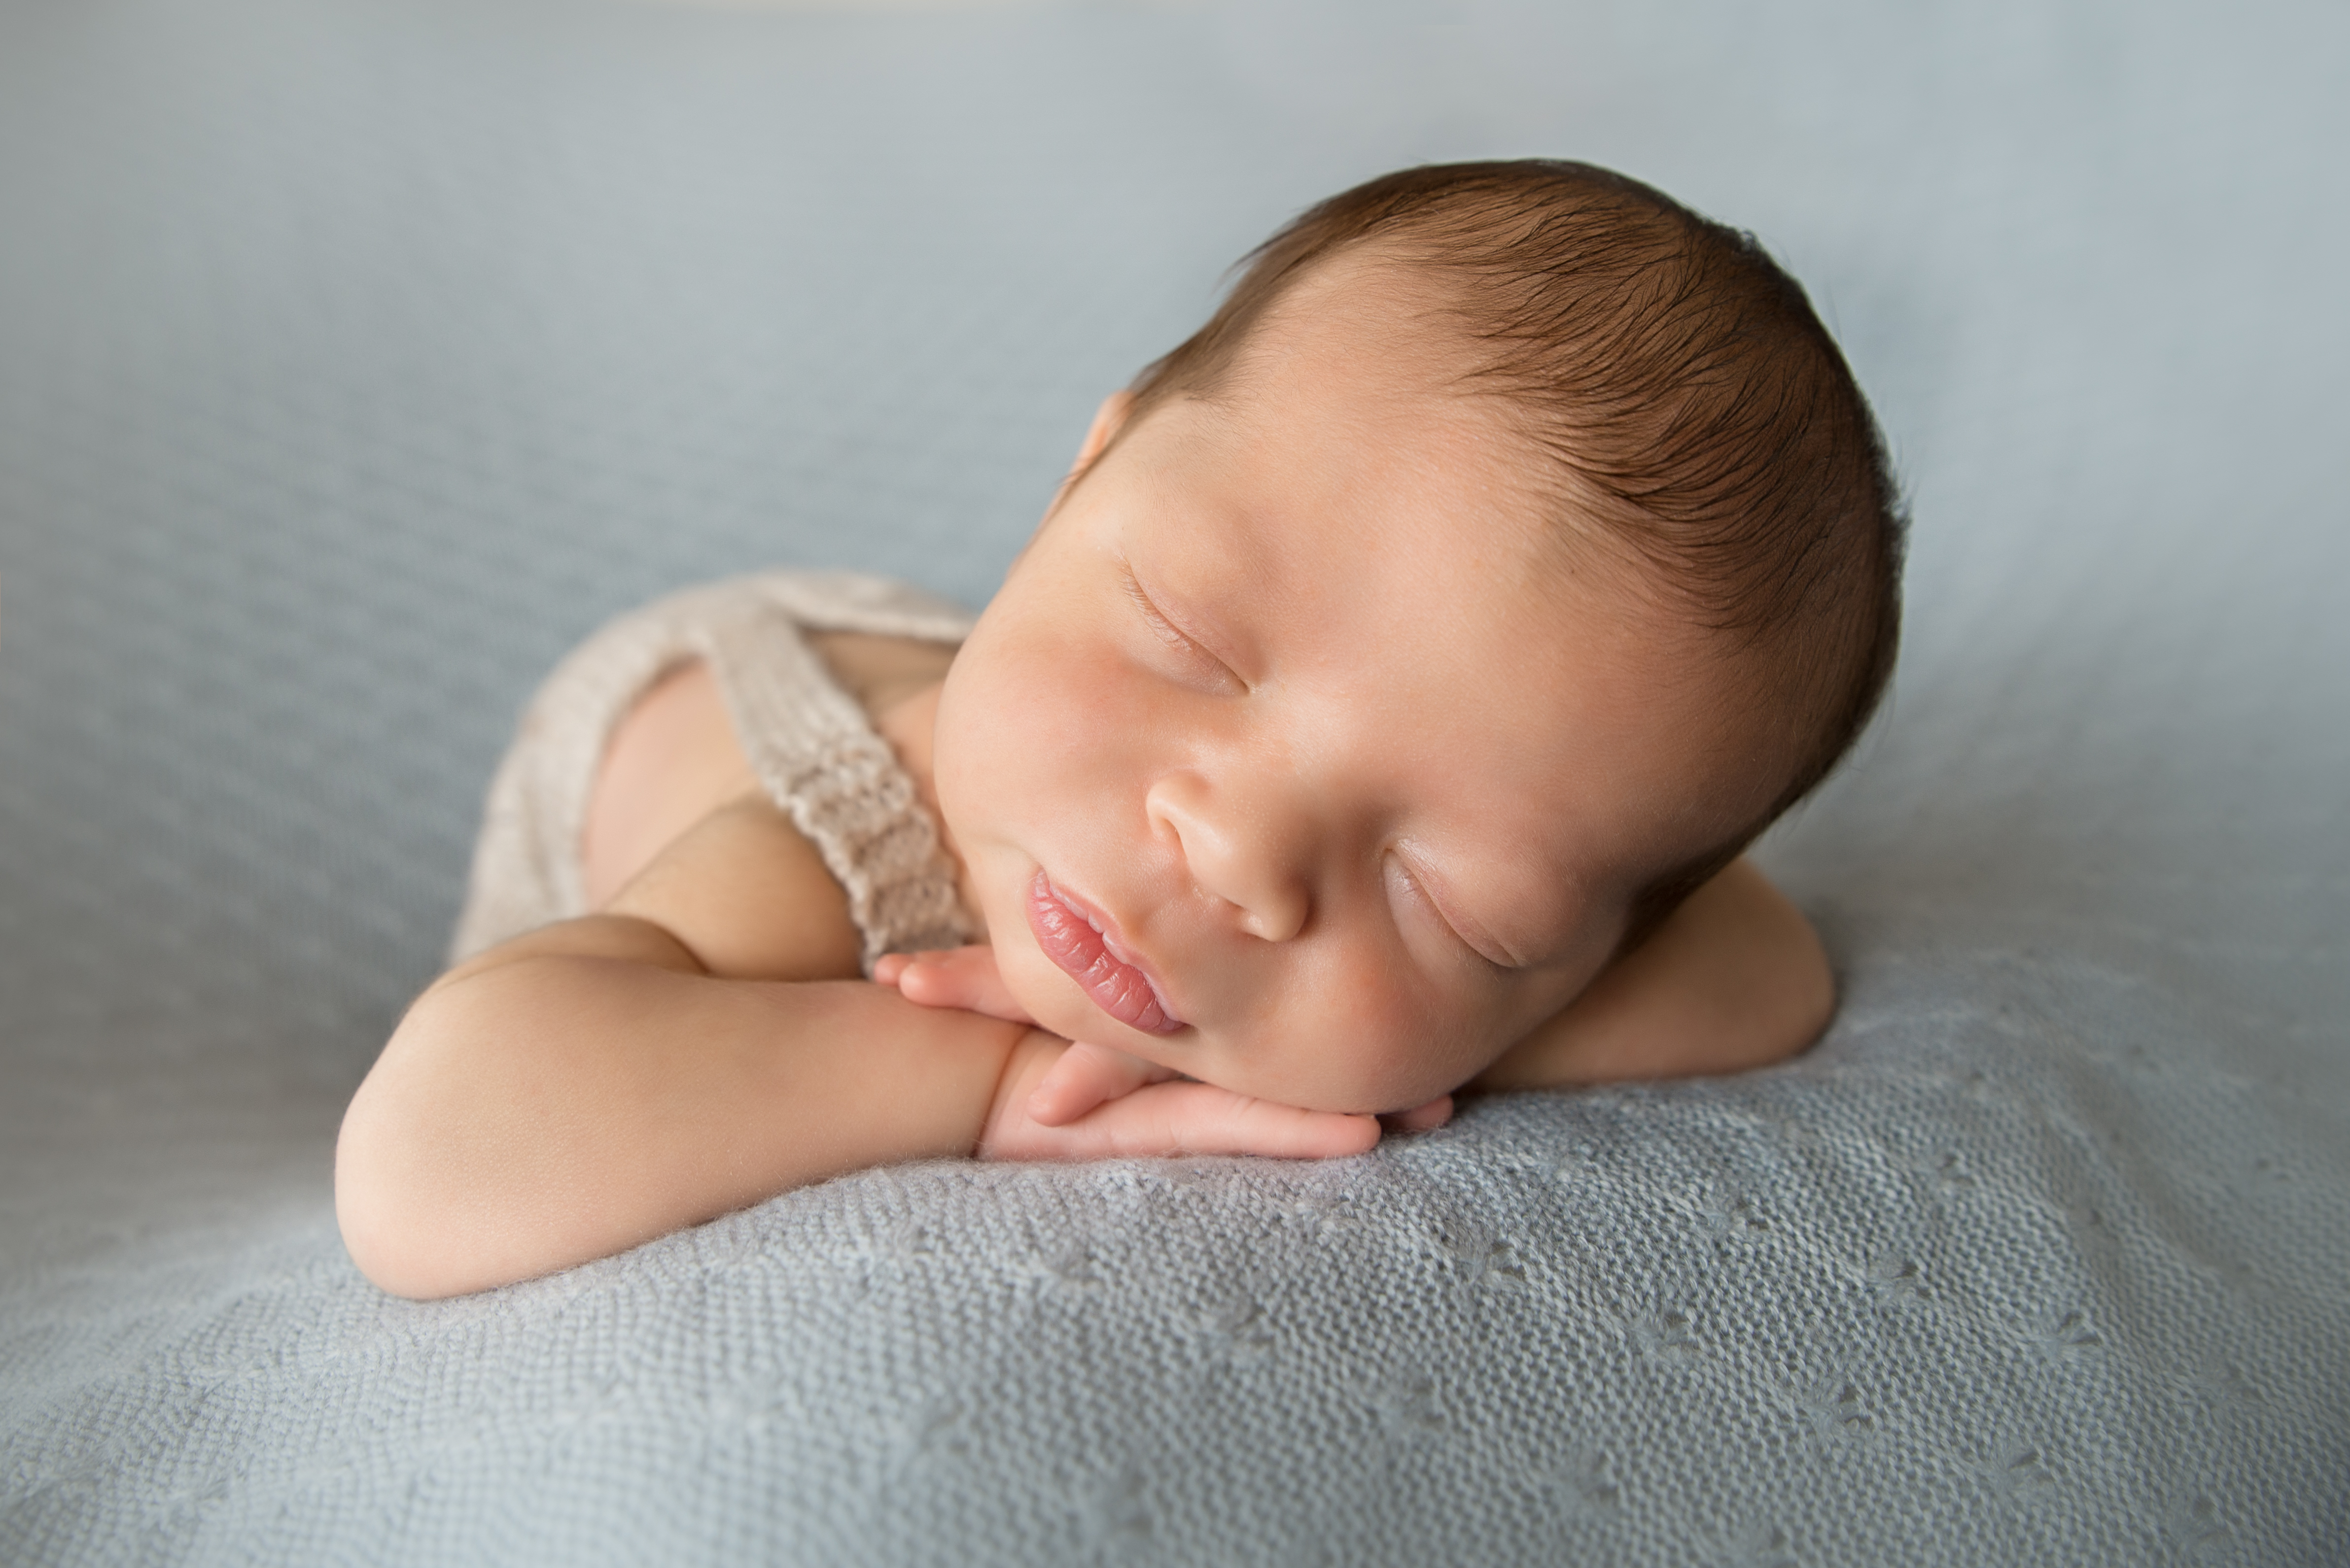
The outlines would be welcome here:
M 451 962 L 588 913 L 580 831 L 604 746 L 637 699 L 689 660 L 710 664 L 752 772 L 848 892 L 865 972 L 881 953 L 971 941 L 954 864 L 914 782 L 801 629 L 961 643 L 971 615 L 884 577 L 761 573 L 609 622 L 555 667 L 498 763 Z

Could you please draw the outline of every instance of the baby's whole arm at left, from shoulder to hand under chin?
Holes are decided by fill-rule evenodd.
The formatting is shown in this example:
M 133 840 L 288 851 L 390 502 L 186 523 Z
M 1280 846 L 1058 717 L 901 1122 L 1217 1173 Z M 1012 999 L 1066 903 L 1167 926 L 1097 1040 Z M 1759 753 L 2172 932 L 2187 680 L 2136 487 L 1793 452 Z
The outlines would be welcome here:
M 895 1160 L 1323 1157 L 1379 1136 L 1370 1117 L 1208 1084 L 1041 1127 L 1025 1106 L 1069 1045 L 818 979 L 808 911 L 839 892 L 790 897 L 806 878 L 822 869 L 790 822 L 733 800 L 602 913 L 444 974 L 343 1117 L 336 1214 L 352 1261 L 402 1296 L 454 1296 Z

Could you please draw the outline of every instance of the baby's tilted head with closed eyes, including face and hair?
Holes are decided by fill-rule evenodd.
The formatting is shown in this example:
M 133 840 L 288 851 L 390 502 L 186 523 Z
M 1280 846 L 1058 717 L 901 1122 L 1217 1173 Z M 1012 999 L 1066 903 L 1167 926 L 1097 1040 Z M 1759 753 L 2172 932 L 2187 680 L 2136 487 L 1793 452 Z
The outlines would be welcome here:
M 940 812 L 1039 1023 L 1401 1110 L 1826 775 L 1899 554 L 1748 237 L 1582 164 L 1394 174 L 1102 406 L 947 678 Z

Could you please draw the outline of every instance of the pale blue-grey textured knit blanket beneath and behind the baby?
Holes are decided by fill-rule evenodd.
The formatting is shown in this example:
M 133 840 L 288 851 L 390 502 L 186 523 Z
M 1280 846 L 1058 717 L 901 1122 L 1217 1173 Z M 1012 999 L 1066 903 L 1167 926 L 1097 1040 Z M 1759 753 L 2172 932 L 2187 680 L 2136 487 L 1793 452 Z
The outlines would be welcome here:
M 2350 1563 L 2345 80 L 2338 0 L 0 5 L 0 1563 Z M 985 603 L 1234 256 L 1497 153 L 1753 228 L 1885 415 L 1817 1049 L 352 1270 L 566 648 Z

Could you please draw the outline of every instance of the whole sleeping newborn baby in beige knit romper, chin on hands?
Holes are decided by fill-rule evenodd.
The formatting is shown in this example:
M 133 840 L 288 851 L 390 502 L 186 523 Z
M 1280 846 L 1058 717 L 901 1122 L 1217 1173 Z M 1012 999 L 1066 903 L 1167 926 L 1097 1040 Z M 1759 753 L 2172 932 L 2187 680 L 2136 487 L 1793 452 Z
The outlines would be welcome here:
M 841 575 L 566 660 L 343 1120 L 442 1296 L 938 1155 L 1344 1155 L 1833 1009 L 1741 850 L 1892 667 L 1882 444 L 1744 235 L 1582 164 L 1307 211 L 964 622 Z

